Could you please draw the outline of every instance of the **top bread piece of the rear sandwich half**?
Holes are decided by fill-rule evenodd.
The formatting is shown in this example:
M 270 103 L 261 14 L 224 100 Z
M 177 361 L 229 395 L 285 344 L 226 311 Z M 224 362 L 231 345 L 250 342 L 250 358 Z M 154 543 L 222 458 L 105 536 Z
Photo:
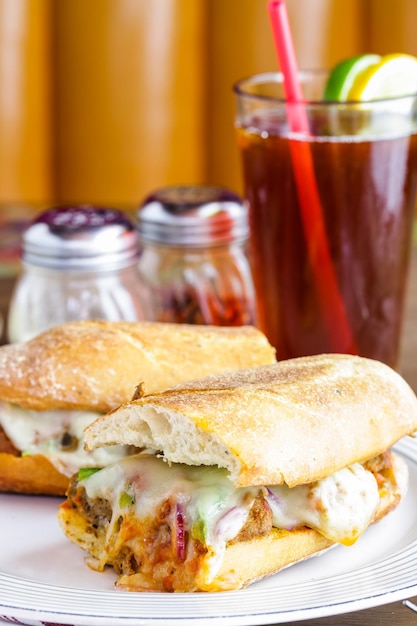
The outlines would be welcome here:
M 275 361 L 252 326 L 69 322 L 0 348 L 0 399 L 38 411 L 105 412 L 132 398 L 208 374 Z

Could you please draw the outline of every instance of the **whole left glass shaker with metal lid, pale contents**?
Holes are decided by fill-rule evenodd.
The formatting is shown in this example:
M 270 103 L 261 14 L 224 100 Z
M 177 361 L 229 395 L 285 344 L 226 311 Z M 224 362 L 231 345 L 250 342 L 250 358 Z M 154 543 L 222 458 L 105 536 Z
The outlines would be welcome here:
M 121 211 L 77 205 L 41 213 L 23 233 L 9 341 L 67 321 L 146 319 L 138 257 L 136 227 Z

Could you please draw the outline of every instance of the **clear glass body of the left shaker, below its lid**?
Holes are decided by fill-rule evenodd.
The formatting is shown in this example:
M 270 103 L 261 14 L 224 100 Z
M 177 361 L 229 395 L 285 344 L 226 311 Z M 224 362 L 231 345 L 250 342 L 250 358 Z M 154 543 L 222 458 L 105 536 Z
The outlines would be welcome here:
M 100 272 L 25 264 L 10 303 L 8 339 L 27 341 L 51 326 L 76 320 L 143 320 L 150 311 L 136 264 Z

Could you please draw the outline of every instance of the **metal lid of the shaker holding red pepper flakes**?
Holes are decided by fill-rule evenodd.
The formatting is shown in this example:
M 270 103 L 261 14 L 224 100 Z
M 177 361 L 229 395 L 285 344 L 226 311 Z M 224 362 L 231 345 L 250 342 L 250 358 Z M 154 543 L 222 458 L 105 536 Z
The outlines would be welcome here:
M 241 198 L 222 187 L 165 187 L 148 196 L 137 212 L 143 241 L 187 247 L 213 246 L 248 238 L 248 212 Z

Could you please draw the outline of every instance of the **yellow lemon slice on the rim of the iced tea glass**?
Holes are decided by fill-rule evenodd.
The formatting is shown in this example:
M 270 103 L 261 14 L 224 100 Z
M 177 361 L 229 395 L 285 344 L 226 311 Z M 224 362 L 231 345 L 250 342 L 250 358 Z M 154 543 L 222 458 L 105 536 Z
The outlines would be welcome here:
M 365 102 L 415 93 L 417 58 L 409 54 L 387 54 L 358 74 L 346 99 Z

